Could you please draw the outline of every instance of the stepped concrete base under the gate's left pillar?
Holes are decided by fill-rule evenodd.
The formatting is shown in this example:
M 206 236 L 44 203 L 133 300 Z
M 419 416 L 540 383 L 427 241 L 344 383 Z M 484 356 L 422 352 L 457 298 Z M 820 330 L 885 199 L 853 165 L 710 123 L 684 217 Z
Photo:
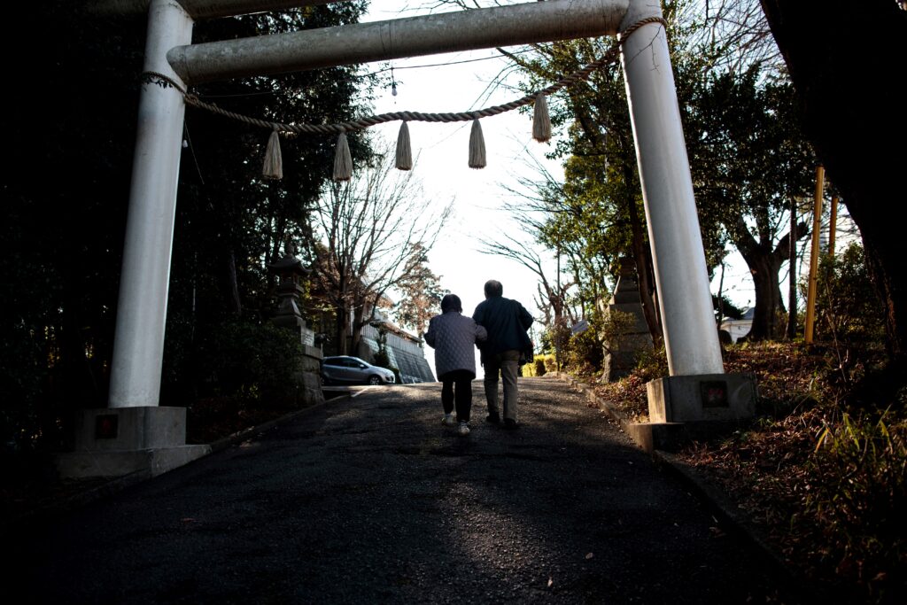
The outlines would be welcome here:
M 186 408 L 112 407 L 83 410 L 75 421 L 75 446 L 57 457 L 67 479 L 165 473 L 210 454 L 210 445 L 186 444 Z

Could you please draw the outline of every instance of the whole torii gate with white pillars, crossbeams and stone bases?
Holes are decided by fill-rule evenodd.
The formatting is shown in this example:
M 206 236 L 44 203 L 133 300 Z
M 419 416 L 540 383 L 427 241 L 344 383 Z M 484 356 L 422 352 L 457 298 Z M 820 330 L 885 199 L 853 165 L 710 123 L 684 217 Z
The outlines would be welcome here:
M 144 71 L 161 73 L 183 88 L 348 63 L 619 35 L 650 20 L 623 39 L 621 48 L 670 375 L 649 384 L 650 417 L 653 423 L 669 424 L 752 415 L 755 385 L 746 376 L 724 374 L 658 0 L 533 1 L 191 44 L 198 19 L 332 1 L 336 0 L 100 0 L 113 10 L 147 6 Z M 205 453 L 185 449 L 204 446 L 185 445 L 179 412 L 184 423 L 184 409 L 158 407 L 184 112 L 180 91 L 157 83 L 142 85 L 109 408 L 89 411 L 82 429 L 84 433 L 94 425 L 97 433 L 103 417 L 131 426 L 123 431 L 131 436 L 118 435 L 111 442 L 99 442 L 98 434 L 85 436 L 83 449 L 172 450 L 176 453 L 172 462 L 151 463 L 160 472 Z M 739 412 L 741 397 L 744 409 Z M 704 408 L 712 408 L 713 414 Z M 92 465 L 98 467 L 96 459 Z

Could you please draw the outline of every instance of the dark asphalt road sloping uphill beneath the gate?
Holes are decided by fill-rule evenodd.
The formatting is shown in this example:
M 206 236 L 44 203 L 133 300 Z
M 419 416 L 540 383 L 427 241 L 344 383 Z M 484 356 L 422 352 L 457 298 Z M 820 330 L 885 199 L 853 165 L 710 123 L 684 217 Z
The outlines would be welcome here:
M 557 380 L 522 426 L 367 387 L 7 536 L 28 603 L 794 603 L 745 542 Z M 14 602 L 7 600 L 6 602 Z

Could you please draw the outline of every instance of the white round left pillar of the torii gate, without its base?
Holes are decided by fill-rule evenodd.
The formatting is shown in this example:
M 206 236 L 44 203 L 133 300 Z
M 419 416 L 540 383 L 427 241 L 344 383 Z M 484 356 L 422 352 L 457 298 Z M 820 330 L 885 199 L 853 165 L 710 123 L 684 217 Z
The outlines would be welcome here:
M 175 0 L 153 0 L 148 15 L 145 72 L 182 83 L 167 51 L 190 44 L 192 18 Z M 183 86 L 185 88 L 185 86 Z M 173 221 L 186 105 L 172 86 L 141 84 L 132 159 L 129 215 L 120 274 L 109 405 L 158 405 Z

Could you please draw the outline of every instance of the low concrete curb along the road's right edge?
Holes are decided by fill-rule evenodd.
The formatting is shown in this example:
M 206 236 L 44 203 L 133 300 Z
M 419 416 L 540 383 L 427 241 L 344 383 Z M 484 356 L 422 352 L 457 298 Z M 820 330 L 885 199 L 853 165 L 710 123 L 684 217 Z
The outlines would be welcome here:
M 736 535 L 743 537 L 751 543 L 754 550 L 758 552 L 764 560 L 775 568 L 778 578 L 784 583 L 785 589 L 798 594 L 804 603 L 828 602 L 829 595 L 823 595 L 823 590 L 813 586 L 810 582 L 798 578 L 790 570 L 784 556 L 776 551 L 765 538 L 756 529 L 756 526 L 740 511 L 739 507 L 733 502 L 727 493 L 722 492 L 716 485 L 709 483 L 701 473 L 697 473 L 689 464 L 678 459 L 675 454 L 658 450 L 652 447 L 651 433 L 645 430 L 639 430 L 639 423 L 630 422 L 619 409 L 612 405 L 606 399 L 595 395 L 590 385 L 580 382 L 573 376 L 563 372 L 551 372 L 545 377 L 551 376 L 561 380 L 571 388 L 579 391 L 586 398 L 596 404 L 599 409 L 606 412 L 620 426 L 620 429 L 629 435 L 640 449 L 646 451 L 652 456 L 653 461 L 658 466 L 685 483 L 690 493 L 704 503 L 713 517 L 727 528 L 728 532 L 734 532 Z

